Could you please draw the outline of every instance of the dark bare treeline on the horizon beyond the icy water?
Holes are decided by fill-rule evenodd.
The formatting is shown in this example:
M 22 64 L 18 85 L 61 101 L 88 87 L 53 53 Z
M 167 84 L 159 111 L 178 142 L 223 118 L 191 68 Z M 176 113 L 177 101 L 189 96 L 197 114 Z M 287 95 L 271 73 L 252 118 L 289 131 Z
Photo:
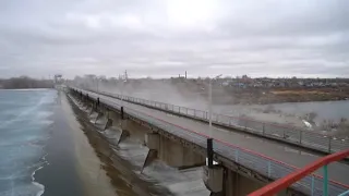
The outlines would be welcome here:
M 52 88 L 52 79 L 36 79 L 28 76 L 0 78 L 0 89 Z

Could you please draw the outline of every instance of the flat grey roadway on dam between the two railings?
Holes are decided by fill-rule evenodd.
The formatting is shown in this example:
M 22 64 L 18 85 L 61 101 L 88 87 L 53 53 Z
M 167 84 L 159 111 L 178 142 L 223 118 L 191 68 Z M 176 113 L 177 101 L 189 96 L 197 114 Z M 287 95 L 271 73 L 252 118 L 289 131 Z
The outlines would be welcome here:
M 81 89 L 79 89 L 81 90 Z M 121 100 L 99 95 L 93 91 L 82 90 L 85 95 L 88 93 L 92 97 L 99 97 L 100 101 L 107 101 L 109 103 L 121 105 Z M 122 101 L 124 111 L 134 112 L 139 111 L 145 113 L 155 119 L 168 122 L 170 124 L 178 125 L 184 130 L 194 131 L 200 134 L 209 135 L 207 123 L 181 118 L 178 115 L 169 114 L 159 110 L 151 109 L 144 106 L 130 103 Z M 277 142 L 272 142 L 261 137 L 254 137 L 251 135 L 243 134 L 241 132 L 233 132 L 230 130 L 225 130 L 220 127 L 213 127 L 213 138 L 215 140 L 220 140 L 225 144 L 232 144 L 239 146 L 242 149 L 252 150 L 261 156 L 267 156 L 274 160 L 281 161 L 287 166 L 302 168 L 308 163 L 311 163 L 320 158 L 320 156 L 310 154 L 308 151 L 302 151 L 294 147 L 282 145 Z M 216 145 L 217 146 L 217 145 Z M 214 147 L 215 148 L 215 147 Z M 322 171 L 315 172 L 317 175 L 322 175 Z M 328 175 L 332 181 L 339 182 L 344 185 L 349 185 L 349 166 L 340 162 L 332 163 L 328 166 Z

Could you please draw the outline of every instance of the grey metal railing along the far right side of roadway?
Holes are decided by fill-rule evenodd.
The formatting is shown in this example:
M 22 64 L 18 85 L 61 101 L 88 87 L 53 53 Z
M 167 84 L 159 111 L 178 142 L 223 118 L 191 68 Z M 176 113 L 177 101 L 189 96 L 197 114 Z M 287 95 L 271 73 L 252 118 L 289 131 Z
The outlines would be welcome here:
M 207 111 L 180 107 L 170 103 L 164 103 L 159 101 L 146 100 L 130 96 L 121 96 L 118 94 L 111 94 L 106 91 L 99 91 L 99 94 L 104 94 L 118 99 L 122 98 L 125 101 L 165 110 L 184 117 L 190 117 L 202 121 L 208 121 Z M 298 146 L 303 146 L 326 154 L 332 154 L 349 148 L 348 139 L 337 139 L 336 137 L 332 137 L 310 130 L 303 130 L 300 127 L 293 127 L 277 123 L 261 122 L 248 118 L 229 117 L 218 113 L 213 113 L 212 120 L 213 123 L 218 125 L 257 134 L 264 137 L 284 140 L 290 144 L 296 144 Z

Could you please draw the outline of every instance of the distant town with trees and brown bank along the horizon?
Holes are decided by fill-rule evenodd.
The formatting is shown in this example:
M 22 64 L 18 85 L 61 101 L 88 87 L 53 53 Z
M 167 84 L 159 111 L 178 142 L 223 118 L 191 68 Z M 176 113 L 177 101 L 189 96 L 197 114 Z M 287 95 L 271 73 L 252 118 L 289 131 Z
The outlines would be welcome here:
M 209 77 L 190 78 L 178 75 L 170 78 L 129 78 L 127 72 L 119 77 L 85 75 L 73 82 L 81 87 L 96 85 L 122 88 L 129 91 L 176 89 L 176 93 L 195 99 L 207 98 Z M 349 100 L 349 78 L 252 78 L 248 75 L 224 76 L 212 81 L 213 98 L 217 103 L 275 103 L 300 101 Z M 195 96 L 190 96 L 195 95 Z

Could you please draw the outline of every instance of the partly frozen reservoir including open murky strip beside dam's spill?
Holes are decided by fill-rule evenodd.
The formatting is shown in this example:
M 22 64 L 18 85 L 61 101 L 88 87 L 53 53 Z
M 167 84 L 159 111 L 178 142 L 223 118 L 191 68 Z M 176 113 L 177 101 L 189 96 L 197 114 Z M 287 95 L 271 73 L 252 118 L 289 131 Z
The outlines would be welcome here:
M 112 196 L 123 191 L 122 181 L 111 184 L 64 94 L 0 90 L 0 111 L 1 196 Z

